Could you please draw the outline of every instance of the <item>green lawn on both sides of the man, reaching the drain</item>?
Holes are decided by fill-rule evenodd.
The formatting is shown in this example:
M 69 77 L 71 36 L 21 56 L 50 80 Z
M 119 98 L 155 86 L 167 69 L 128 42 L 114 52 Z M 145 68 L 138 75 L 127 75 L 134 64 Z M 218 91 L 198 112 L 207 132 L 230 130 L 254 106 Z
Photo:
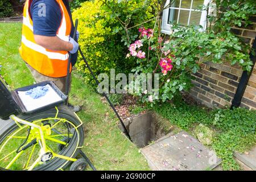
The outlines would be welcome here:
M 1 75 L 11 88 L 34 82 L 20 59 L 21 23 L 0 23 Z M 72 104 L 82 105 L 79 117 L 84 122 L 85 142 L 82 149 L 98 170 L 148 170 L 138 148 L 118 129 L 113 111 L 87 86 L 78 74 L 72 76 Z

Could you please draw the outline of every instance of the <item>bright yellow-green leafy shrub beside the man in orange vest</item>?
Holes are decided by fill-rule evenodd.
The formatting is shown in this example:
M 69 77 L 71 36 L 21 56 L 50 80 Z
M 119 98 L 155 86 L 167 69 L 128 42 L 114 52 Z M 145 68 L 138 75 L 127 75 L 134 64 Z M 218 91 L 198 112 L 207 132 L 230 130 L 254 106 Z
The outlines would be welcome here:
M 115 73 L 127 73 L 134 67 L 134 61 L 125 60 L 127 47 L 121 42 L 126 34 L 122 25 L 115 18 L 117 14 L 110 9 L 115 7 L 117 1 L 86 1 L 81 7 L 73 11 L 73 18 L 79 19 L 80 46 L 90 67 L 96 76 L 100 73 L 108 73 L 115 69 Z M 147 5 L 147 4 L 146 4 Z M 151 17 L 150 7 L 138 0 L 129 0 L 129 6 L 121 2 L 116 6 L 120 18 L 129 14 L 130 26 L 139 24 Z M 145 11 L 142 11 L 145 10 Z M 138 11 L 141 10 L 141 11 Z M 147 13 L 145 13 L 147 12 Z M 138 18 L 139 17 L 139 18 Z M 137 34 L 137 28 L 130 28 L 129 35 Z M 136 36 L 133 38 L 133 40 Z M 84 73 L 87 82 L 92 82 L 92 77 L 81 57 L 78 59 L 77 69 Z M 94 82 L 93 82 L 94 83 Z

